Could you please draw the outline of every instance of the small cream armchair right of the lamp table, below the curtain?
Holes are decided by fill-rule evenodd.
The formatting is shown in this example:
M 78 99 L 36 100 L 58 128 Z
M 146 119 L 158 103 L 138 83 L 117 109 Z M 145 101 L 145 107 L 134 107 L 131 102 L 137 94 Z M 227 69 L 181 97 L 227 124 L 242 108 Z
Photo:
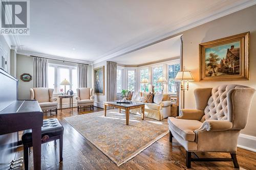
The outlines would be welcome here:
M 94 96 L 92 88 L 77 88 L 77 111 L 79 108 L 93 108 Z

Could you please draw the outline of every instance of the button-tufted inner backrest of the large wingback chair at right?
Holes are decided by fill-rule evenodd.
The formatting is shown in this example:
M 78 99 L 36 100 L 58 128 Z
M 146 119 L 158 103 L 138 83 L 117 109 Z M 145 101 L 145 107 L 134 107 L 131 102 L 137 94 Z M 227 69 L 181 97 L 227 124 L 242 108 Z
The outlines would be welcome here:
M 201 122 L 205 120 L 227 120 L 227 93 L 233 88 L 246 88 L 242 85 L 221 85 L 211 90 L 211 96 L 207 106 L 204 109 L 204 116 Z

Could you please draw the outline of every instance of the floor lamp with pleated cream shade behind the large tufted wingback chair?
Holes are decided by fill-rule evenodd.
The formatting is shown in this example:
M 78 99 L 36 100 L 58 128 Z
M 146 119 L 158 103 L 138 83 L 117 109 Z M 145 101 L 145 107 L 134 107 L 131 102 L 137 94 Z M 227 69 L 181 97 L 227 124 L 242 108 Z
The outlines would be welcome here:
M 180 82 L 180 90 L 183 93 L 183 107 L 182 109 L 184 109 L 185 107 L 185 90 L 188 90 L 188 82 L 193 82 L 194 78 L 191 74 L 191 71 L 179 71 L 177 73 L 177 76 L 175 78 L 175 81 L 179 81 Z M 185 84 L 186 84 L 186 88 L 185 88 Z

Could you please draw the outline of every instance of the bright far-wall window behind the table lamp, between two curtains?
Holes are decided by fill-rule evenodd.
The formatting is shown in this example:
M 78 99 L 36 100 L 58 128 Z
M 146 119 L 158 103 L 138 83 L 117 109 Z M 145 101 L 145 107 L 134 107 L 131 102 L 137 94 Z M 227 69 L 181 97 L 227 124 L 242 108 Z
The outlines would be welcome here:
M 66 86 L 66 90 L 71 89 L 76 93 L 77 67 L 59 64 L 48 65 L 48 87 L 54 89 L 54 94 L 58 94 L 60 89 L 65 89 L 65 86 L 60 85 L 65 79 L 70 82 L 70 86 Z

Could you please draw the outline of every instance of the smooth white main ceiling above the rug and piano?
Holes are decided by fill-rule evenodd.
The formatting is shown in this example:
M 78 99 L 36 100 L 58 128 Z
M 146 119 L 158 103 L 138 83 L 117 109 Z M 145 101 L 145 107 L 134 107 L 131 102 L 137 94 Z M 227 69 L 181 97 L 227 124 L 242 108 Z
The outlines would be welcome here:
M 255 0 L 32 0 L 19 53 L 100 62 L 256 4 Z

